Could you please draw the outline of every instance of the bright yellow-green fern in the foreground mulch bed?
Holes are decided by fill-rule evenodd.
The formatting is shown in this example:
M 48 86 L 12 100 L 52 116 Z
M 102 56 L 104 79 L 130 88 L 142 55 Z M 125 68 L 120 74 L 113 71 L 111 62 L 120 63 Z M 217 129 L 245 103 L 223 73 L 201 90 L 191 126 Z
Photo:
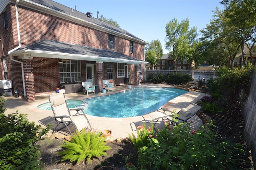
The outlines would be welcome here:
M 81 160 L 86 159 L 92 163 L 93 156 L 108 156 L 105 151 L 112 149 L 110 146 L 106 146 L 105 140 L 106 137 L 102 138 L 100 132 L 93 133 L 82 130 L 79 133 L 76 131 L 70 142 L 65 141 L 66 144 L 61 145 L 66 150 L 60 151 L 58 154 L 64 155 L 61 161 L 77 161 L 76 164 L 78 164 Z

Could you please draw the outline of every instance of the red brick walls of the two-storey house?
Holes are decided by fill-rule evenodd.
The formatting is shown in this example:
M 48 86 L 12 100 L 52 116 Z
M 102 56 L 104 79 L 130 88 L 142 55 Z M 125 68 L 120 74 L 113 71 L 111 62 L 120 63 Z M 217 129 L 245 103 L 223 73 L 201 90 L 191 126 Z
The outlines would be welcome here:
M 18 16 L 20 24 L 20 38 L 21 46 L 26 46 L 40 40 L 57 40 L 60 42 L 67 42 L 72 44 L 80 44 L 94 48 L 108 49 L 108 33 L 76 24 L 74 22 L 64 20 L 62 18 L 52 16 L 43 12 L 39 12 L 27 7 L 18 6 Z M 18 34 L 15 14 L 15 4 L 11 3 L 6 8 L 8 16 L 8 30 L 3 28 L 3 15 L 0 20 L 1 43 L 3 44 L 3 54 L 1 57 L 8 56 L 8 51 L 18 46 Z M 134 53 L 129 52 L 129 40 L 115 36 L 114 50 L 122 54 L 132 56 L 134 58 L 144 59 L 144 45 L 134 42 Z M 9 57 L 9 56 L 8 56 Z M 16 60 L 16 57 L 14 57 Z M 10 61 L 8 58 L 8 75 L 10 80 L 13 80 L 14 89 L 18 89 L 20 94 L 23 94 L 21 64 Z M 21 60 L 20 60 L 21 61 Z M 25 61 L 26 62 L 26 61 Z M 82 81 L 86 81 L 86 61 L 81 61 Z M 116 69 L 116 63 L 114 64 Z M 30 72 L 30 73 L 29 73 Z M 28 76 L 29 75 L 29 76 Z M 33 78 L 30 77 L 33 75 Z M 3 76 L 3 71 L 0 69 L 0 78 Z M 26 76 L 29 81 L 34 81 L 34 89 L 30 96 L 51 93 L 55 91 L 56 86 L 60 84 L 59 68 L 57 59 L 49 58 L 33 58 L 33 72 L 31 69 L 26 70 Z M 106 72 L 104 72 L 106 76 Z M 25 77 L 26 79 L 26 77 Z M 116 73 L 114 73 L 114 84 L 116 80 Z M 31 89 L 30 85 L 26 84 L 26 88 Z M 35 94 L 34 94 L 35 93 Z

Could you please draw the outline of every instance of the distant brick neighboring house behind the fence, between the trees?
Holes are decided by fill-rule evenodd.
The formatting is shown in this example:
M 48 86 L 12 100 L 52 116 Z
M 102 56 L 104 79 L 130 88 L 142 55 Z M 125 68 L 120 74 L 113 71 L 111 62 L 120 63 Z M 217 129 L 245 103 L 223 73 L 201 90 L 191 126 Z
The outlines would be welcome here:
M 182 59 L 181 62 L 178 62 L 177 70 L 188 70 L 189 64 L 187 60 Z M 170 53 L 164 54 L 161 57 L 161 60 L 156 65 L 157 70 L 173 70 L 174 69 L 174 60 Z

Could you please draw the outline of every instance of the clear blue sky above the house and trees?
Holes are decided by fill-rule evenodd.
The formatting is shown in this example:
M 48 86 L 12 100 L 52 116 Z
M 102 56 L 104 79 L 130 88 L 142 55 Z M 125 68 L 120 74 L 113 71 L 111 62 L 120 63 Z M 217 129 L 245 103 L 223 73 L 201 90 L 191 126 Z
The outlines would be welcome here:
M 216 7 L 223 9 L 219 0 L 54 0 L 60 4 L 92 16 L 112 18 L 122 29 L 138 38 L 151 42 L 160 40 L 164 54 L 165 26 L 176 18 L 178 22 L 188 18 L 190 28 L 196 26 L 198 32 L 210 23 Z

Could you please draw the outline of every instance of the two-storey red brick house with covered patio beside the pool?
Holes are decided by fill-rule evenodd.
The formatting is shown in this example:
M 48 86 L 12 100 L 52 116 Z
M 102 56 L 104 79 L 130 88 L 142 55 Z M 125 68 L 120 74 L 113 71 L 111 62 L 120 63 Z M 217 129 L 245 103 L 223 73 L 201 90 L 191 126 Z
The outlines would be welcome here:
M 144 75 L 146 42 L 91 12 L 52 0 L 0 0 L 0 18 L 0 80 L 12 80 L 27 101 L 64 84 L 102 89 L 102 80 L 137 85 Z

